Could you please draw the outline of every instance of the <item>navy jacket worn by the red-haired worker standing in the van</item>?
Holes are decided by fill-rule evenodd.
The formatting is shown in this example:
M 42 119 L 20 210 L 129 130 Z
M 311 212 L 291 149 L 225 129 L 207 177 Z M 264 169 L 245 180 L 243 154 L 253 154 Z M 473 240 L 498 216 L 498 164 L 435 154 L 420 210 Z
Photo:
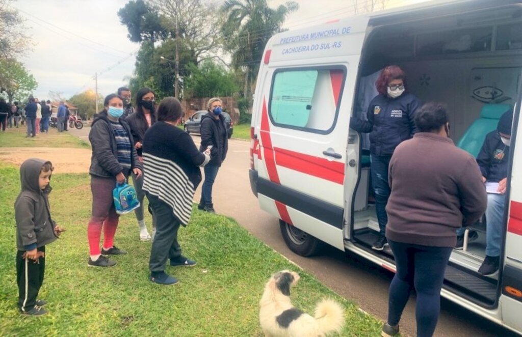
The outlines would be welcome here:
M 395 99 L 379 94 L 370 102 L 368 120 L 352 118 L 350 127 L 361 133 L 370 133 L 372 154 L 392 155 L 397 145 L 413 137 L 413 117 L 420 106 L 420 100 L 408 92 Z

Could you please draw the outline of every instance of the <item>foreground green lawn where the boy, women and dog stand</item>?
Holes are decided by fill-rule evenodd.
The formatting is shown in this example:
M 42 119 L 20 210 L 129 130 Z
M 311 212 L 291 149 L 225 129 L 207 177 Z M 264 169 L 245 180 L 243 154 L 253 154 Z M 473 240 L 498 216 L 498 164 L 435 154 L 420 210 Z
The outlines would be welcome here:
M 184 255 L 194 268 L 167 267 L 180 279 L 173 286 L 148 280 L 150 242 L 138 240 L 134 214 L 122 216 L 115 243 L 129 253 L 117 266 L 87 267 L 87 222 L 91 193 L 87 174 L 55 174 L 51 209 L 67 231 L 46 249 L 46 275 L 39 298 L 49 314 L 21 317 L 16 308 L 15 221 L 17 167 L 0 163 L 0 331 L 2 335 L 261 336 L 258 302 L 269 275 L 282 269 L 301 274 L 292 293 L 296 306 L 313 312 L 332 297 L 346 307 L 343 336 L 379 335 L 381 323 L 300 271 L 225 216 L 195 209 L 180 230 Z M 150 226 L 150 216 L 147 224 Z M 347 284 L 347 286 L 349 286 Z

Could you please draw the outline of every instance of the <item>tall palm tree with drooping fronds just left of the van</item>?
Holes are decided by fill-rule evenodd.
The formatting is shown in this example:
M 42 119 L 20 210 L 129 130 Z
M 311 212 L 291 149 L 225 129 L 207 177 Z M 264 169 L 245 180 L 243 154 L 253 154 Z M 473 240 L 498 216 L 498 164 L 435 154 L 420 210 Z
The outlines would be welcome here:
M 244 71 L 243 97 L 250 100 L 250 83 L 254 82 L 268 40 L 287 16 L 299 5 L 288 1 L 276 9 L 266 0 L 227 0 L 221 6 L 226 21 L 222 25 L 226 50 L 232 53 L 232 65 Z

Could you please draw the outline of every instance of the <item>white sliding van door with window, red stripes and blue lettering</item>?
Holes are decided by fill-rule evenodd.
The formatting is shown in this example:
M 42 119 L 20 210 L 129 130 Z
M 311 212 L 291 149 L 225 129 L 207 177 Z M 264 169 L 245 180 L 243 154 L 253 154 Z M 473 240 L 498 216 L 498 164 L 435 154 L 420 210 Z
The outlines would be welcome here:
M 262 110 L 260 207 L 341 250 L 348 126 L 367 23 L 356 17 L 275 35 L 254 103 Z

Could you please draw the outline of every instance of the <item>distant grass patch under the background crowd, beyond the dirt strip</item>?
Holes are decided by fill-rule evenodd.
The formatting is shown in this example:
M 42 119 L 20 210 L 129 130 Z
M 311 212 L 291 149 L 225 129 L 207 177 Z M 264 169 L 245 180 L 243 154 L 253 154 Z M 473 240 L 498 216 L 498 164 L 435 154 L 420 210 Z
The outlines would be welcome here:
M 0 133 L 0 148 L 90 148 L 89 143 L 67 132 L 59 134 L 55 128 L 49 128 L 48 134 L 38 134 L 34 138 L 26 138 L 26 130 L 24 125 Z

